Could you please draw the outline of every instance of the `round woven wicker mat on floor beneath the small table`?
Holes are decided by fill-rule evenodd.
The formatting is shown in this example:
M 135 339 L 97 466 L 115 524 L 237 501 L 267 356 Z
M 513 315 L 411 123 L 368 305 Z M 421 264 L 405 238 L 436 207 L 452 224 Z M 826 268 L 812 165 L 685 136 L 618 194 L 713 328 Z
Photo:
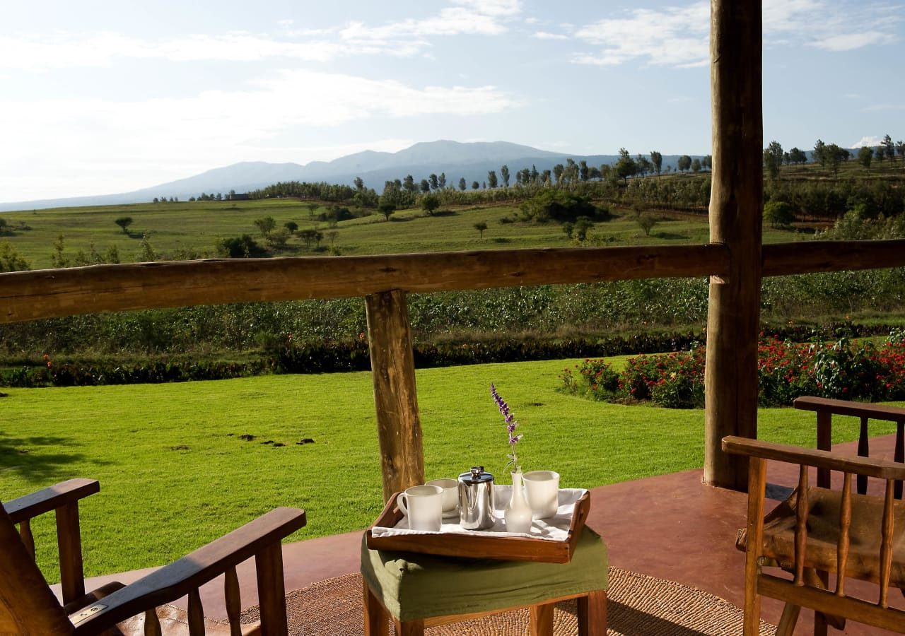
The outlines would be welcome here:
M 290 634 L 359 636 L 363 628 L 361 575 L 347 574 L 286 595 Z M 622 636 L 733 636 L 741 634 L 742 612 L 718 596 L 663 579 L 610 568 L 606 604 L 608 634 Z M 575 601 L 557 604 L 555 634 L 576 634 Z M 258 608 L 242 614 L 258 618 Z M 392 629 L 390 630 L 392 633 Z M 431 636 L 522 636 L 529 634 L 528 610 L 485 616 L 426 630 Z M 775 628 L 762 622 L 761 636 Z

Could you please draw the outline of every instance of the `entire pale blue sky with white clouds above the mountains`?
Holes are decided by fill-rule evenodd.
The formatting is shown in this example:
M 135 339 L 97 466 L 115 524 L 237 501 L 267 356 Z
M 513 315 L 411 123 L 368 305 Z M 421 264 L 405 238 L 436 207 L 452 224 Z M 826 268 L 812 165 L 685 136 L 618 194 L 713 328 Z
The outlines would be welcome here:
M 903 20 L 764 0 L 765 145 L 905 138 Z M 709 154 L 709 30 L 707 0 L 8 2 L 0 202 L 436 139 Z

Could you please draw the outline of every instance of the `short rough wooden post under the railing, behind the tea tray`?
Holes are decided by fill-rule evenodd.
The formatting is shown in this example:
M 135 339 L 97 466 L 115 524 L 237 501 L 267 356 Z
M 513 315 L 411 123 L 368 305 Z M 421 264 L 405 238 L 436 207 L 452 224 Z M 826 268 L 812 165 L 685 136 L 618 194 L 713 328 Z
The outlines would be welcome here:
M 405 291 L 371 294 L 365 304 L 386 501 L 397 490 L 424 483 L 412 332 Z

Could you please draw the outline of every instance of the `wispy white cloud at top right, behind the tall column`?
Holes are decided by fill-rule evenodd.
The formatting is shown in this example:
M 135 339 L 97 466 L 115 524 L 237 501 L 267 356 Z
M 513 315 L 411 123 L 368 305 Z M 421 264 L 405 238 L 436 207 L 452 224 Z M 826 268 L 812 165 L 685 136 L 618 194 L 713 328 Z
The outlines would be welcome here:
M 852 51 L 897 41 L 900 6 L 851 0 L 764 0 L 767 45 L 806 43 L 826 51 Z M 573 62 L 615 65 L 639 60 L 653 65 L 702 66 L 710 61 L 710 3 L 633 9 L 577 30 L 578 39 L 600 47 Z

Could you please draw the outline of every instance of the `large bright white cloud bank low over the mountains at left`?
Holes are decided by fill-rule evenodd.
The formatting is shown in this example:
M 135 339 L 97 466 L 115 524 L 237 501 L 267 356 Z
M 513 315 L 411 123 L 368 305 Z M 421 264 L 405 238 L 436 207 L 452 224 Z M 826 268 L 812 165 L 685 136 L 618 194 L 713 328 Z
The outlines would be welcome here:
M 0 156 L 0 192 L 5 200 L 24 200 L 123 191 L 237 161 L 303 162 L 325 158 L 300 155 L 293 140 L 306 129 L 518 107 L 493 86 L 414 87 L 313 71 L 282 71 L 247 90 L 207 90 L 186 99 L 7 100 L 0 138 L 17 151 Z M 29 180 L 35 175 L 42 184 Z

